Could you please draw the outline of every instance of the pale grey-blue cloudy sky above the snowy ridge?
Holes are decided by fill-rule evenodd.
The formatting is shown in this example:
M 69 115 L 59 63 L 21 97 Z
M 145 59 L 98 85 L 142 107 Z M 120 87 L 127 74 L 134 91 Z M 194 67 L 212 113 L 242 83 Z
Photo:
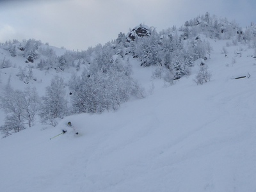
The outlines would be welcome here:
M 161 31 L 206 12 L 245 27 L 256 23 L 255 10 L 255 0 L 0 0 L 0 42 L 35 38 L 86 50 L 140 23 Z

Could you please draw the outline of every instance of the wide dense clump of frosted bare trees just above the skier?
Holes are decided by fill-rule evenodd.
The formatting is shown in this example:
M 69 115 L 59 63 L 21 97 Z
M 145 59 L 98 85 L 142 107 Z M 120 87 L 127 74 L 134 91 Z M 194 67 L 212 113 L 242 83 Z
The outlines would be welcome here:
M 102 113 L 118 109 L 132 95 L 141 97 L 142 90 L 132 81 L 131 66 L 115 60 L 107 68 L 84 70 L 81 77 L 70 80 L 73 113 Z

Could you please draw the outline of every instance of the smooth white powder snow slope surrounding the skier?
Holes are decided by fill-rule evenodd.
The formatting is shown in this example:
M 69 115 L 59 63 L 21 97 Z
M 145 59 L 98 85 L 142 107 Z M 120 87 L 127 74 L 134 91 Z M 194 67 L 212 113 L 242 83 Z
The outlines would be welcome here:
M 253 50 L 230 46 L 225 57 L 221 48 L 226 41 L 209 41 L 214 49 L 205 61 L 212 74 L 209 83 L 193 81 L 196 65 L 191 76 L 166 87 L 161 80 L 150 81 L 154 67 L 134 62 L 133 75 L 145 90 L 154 84 L 145 99 L 1 139 L 0 191 L 255 192 Z M 241 57 L 234 54 L 239 49 Z M 234 79 L 248 73 L 250 78 Z M 68 129 L 68 121 L 79 135 Z M 68 131 L 49 140 L 61 129 Z

